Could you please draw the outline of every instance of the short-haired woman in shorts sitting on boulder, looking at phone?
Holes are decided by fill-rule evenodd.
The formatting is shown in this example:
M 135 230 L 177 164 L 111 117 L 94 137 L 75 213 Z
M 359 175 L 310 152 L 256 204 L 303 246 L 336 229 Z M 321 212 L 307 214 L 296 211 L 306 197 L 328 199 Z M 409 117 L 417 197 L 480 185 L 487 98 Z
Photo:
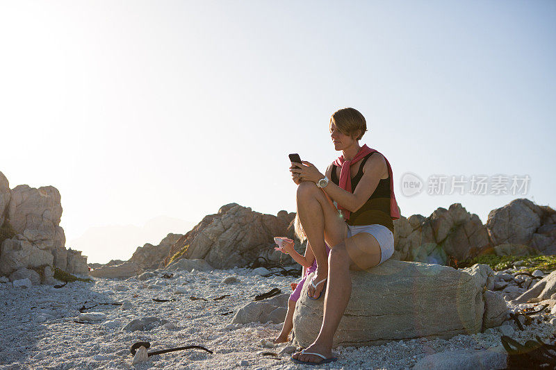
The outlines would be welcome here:
M 388 160 L 359 145 L 367 131 L 365 117 L 354 108 L 343 108 L 330 117 L 329 128 L 334 149 L 342 155 L 326 173 L 306 161 L 290 167 L 298 185 L 297 214 L 317 260 L 308 294 L 316 298 L 325 291 L 325 314 L 317 339 L 292 355 L 293 361 L 304 364 L 336 360 L 332 339 L 350 300 L 349 270 L 369 269 L 391 258 L 392 221 L 400 218 Z M 325 241 L 332 246 L 328 259 Z

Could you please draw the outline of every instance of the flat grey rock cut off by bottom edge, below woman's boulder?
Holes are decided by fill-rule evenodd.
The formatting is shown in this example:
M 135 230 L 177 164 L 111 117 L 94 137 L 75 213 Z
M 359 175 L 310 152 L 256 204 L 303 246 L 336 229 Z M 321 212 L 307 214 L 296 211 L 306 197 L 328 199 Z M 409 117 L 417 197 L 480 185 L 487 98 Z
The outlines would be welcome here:
M 465 349 L 461 351 L 445 351 L 427 355 L 412 368 L 413 370 L 476 370 L 506 369 L 507 352 L 498 346 L 482 351 Z

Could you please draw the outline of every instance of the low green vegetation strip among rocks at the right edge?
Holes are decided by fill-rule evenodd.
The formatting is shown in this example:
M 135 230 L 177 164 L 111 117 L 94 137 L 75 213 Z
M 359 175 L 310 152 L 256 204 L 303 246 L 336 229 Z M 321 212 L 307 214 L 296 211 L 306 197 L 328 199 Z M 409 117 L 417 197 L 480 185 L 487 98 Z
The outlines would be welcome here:
M 556 269 L 556 255 L 480 255 L 467 260 L 458 267 L 470 267 L 475 263 L 483 263 L 488 264 L 495 271 L 500 271 L 513 267 L 518 261 L 523 261 L 523 264 L 516 266 L 520 271 L 550 272 Z

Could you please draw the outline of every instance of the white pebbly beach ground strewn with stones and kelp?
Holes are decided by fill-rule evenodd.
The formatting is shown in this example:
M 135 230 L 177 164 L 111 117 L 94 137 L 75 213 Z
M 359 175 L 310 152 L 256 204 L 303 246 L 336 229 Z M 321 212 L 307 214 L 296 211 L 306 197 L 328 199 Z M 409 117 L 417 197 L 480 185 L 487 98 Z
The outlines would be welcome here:
M 69 283 L 61 289 L 46 285 L 24 289 L 1 283 L 0 369 L 407 369 L 427 354 L 500 346 L 500 333 L 495 329 L 493 334 L 459 335 L 450 340 L 412 339 L 382 346 L 336 348 L 338 362 L 321 367 L 294 364 L 288 354 L 273 360 L 258 353 L 279 353 L 288 345 L 268 346 L 277 337 L 281 324 L 250 323 L 236 328 L 229 325 L 234 314 L 221 313 L 235 313 L 252 301 L 255 294 L 274 287 L 289 293 L 294 278 L 263 278 L 248 269 L 167 272 L 174 272 L 174 278 L 161 278 L 158 271 L 156 278 L 147 281 L 97 279 L 95 283 Z M 222 284 L 227 276 L 236 276 L 240 283 Z M 180 289 L 186 292 L 176 294 Z M 231 297 L 213 301 L 212 298 L 223 294 Z M 208 301 L 191 301 L 190 296 Z M 155 303 L 152 298 L 177 301 Z M 74 323 L 83 304 L 90 307 L 111 302 L 128 303 L 98 305 L 85 312 L 101 312 L 106 319 L 91 321 L 93 324 Z M 158 326 L 133 333 L 122 330 L 129 321 L 142 317 L 159 317 L 173 323 L 175 328 Z M 514 323 L 512 326 L 516 328 Z M 516 330 L 512 337 L 523 343 L 525 339 L 534 339 L 534 335 L 543 339 L 554 337 L 555 331 L 555 326 L 548 322 L 533 323 L 523 332 Z M 131 365 L 133 356 L 129 348 L 139 341 L 151 342 L 149 351 L 195 344 L 214 353 L 178 351 Z

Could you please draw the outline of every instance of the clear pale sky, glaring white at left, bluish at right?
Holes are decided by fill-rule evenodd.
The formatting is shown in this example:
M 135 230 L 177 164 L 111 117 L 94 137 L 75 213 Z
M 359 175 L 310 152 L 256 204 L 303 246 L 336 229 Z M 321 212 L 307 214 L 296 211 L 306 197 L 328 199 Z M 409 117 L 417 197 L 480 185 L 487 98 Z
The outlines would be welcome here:
M 295 211 L 288 153 L 324 171 L 352 107 L 405 217 L 554 207 L 555 19 L 555 1 L 0 1 L 0 171 L 60 190 L 90 262 L 127 259 L 226 203 Z M 500 174 L 527 194 L 427 193 Z M 144 242 L 91 242 L 161 217 Z

